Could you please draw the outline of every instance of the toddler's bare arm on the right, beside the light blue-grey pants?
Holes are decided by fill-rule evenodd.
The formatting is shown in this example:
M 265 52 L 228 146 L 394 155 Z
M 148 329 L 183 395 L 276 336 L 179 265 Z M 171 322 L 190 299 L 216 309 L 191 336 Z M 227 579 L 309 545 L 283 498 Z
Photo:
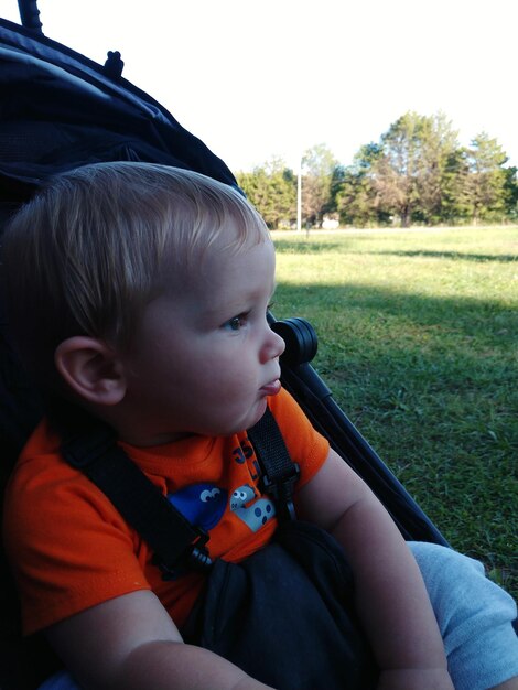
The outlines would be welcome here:
M 357 611 L 382 671 L 378 690 L 453 690 L 419 568 L 382 505 L 334 451 L 299 492 L 296 509 L 346 552 Z

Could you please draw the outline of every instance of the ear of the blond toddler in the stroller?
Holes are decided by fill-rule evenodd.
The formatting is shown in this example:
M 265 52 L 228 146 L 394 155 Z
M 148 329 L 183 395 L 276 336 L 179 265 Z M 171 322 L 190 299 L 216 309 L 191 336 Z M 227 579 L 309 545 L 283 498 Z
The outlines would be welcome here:
M 69 337 L 57 346 L 54 362 L 67 386 L 83 400 L 117 405 L 126 395 L 122 363 L 102 341 Z

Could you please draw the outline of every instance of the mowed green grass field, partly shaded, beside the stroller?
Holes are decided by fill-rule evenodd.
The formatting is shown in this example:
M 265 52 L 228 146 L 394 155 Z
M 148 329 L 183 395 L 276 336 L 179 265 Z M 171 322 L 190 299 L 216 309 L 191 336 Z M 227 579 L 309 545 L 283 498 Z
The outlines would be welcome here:
M 451 545 L 518 596 L 518 227 L 273 235 L 278 319 Z

